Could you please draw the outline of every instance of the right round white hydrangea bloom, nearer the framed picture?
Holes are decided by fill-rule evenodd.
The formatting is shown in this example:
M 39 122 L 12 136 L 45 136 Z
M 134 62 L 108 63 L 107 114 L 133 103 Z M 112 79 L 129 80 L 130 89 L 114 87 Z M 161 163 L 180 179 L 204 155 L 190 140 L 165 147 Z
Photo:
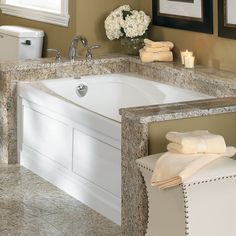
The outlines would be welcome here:
M 126 16 L 122 25 L 126 37 L 134 38 L 144 35 L 150 22 L 151 18 L 143 11 L 131 11 L 131 15 Z

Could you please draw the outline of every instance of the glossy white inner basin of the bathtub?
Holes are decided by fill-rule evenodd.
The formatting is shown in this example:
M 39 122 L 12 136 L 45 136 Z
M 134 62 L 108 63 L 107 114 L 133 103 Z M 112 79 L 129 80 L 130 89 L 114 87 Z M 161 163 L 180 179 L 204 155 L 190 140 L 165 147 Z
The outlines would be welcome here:
M 134 77 L 131 74 L 84 76 L 81 80 L 72 78 L 42 83 L 79 106 L 118 122 L 121 121 L 118 112 L 121 107 L 209 98 L 205 94 L 148 81 L 141 76 Z M 85 97 L 78 97 L 75 93 L 76 86 L 81 83 L 88 86 Z

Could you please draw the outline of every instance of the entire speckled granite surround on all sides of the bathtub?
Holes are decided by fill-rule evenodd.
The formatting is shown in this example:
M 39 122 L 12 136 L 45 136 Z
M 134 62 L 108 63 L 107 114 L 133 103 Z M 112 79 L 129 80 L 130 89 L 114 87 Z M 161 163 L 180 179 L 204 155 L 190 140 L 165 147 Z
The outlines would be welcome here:
M 137 58 L 110 56 L 93 61 L 53 63 L 52 59 L 0 63 L 0 157 L 16 162 L 16 82 L 87 74 L 134 72 L 216 97 L 236 96 L 236 74 L 175 63 L 143 64 Z M 122 109 L 122 234 L 144 235 L 147 219 L 145 185 L 135 160 L 148 154 L 148 124 L 235 112 L 235 98 Z

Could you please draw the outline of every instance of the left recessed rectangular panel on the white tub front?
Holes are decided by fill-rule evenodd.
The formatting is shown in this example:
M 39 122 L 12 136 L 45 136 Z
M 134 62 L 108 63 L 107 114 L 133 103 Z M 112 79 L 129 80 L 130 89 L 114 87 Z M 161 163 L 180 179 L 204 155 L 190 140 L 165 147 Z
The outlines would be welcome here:
M 23 114 L 23 143 L 71 169 L 73 129 L 28 107 L 23 108 Z

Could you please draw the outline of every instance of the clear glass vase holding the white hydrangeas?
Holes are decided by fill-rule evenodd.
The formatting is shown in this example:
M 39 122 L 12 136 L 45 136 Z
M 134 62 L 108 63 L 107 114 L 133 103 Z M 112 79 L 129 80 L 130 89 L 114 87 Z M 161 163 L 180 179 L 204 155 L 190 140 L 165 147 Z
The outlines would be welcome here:
M 138 56 L 139 50 L 144 46 L 144 36 L 128 38 L 121 38 L 122 52 L 131 56 Z

